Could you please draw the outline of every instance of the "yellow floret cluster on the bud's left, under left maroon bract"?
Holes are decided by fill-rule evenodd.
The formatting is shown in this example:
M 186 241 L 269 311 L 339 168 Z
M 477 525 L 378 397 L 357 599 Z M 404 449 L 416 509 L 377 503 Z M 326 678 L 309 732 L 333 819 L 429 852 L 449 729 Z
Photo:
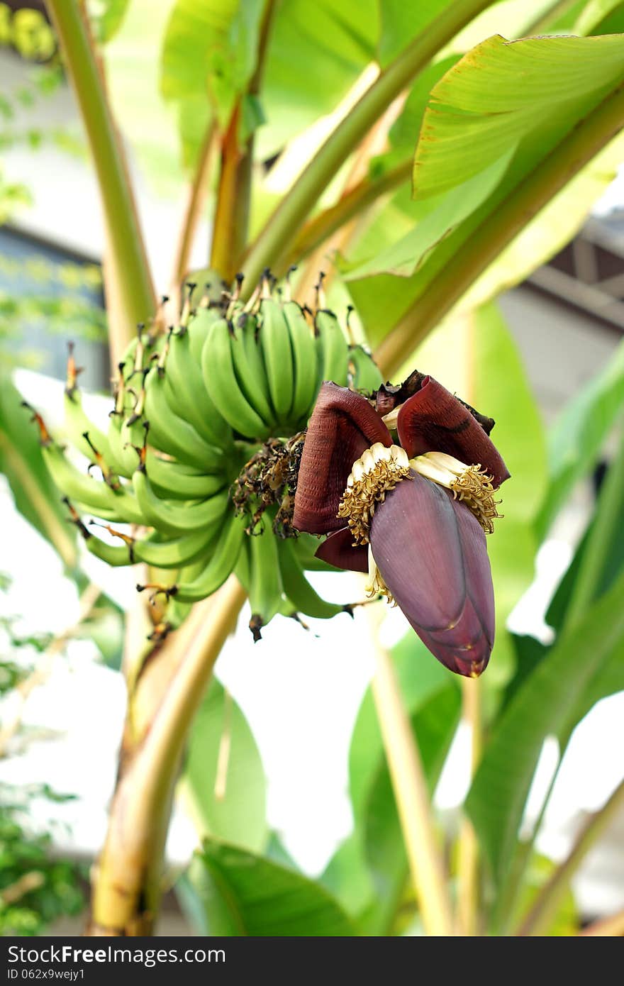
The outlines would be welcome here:
M 354 544 L 368 544 L 373 515 L 388 490 L 397 482 L 409 479 L 410 463 L 407 453 L 398 445 L 388 447 L 376 442 L 353 463 L 342 494 L 338 517 L 345 518 Z

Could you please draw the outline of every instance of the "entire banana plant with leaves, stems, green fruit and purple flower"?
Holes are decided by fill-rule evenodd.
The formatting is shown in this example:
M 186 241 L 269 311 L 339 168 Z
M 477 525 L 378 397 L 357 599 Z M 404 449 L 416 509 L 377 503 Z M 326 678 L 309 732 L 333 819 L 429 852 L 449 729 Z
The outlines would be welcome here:
M 308 880 L 262 826 L 237 836 L 195 790 L 205 841 L 180 887 L 194 921 L 206 934 L 396 934 L 417 911 L 431 935 L 538 934 L 622 800 L 618 789 L 563 867 L 531 882 L 534 839 L 519 833 L 542 742 L 555 733 L 565 748 L 589 696 L 624 685 L 624 452 L 558 594 L 555 642 L 527 657 L 506 619 L 589 466 L 561 451 L 574 448 L 568 428 L 546 460 L 491 300 L 562 246 L 562 224 L 574 235 L 613 173 L 624 9 L 346 0 L 311 16 L 304 0 L 176 0 L 161 26 L 144 0 L 101 8 L 95 21 L 79 0 L 48 0 L 106 230 L 107 429 L 84 412 L 71 352 L 65 391 L 65 434 L 87 473 L 33 409 L 87 549 L 143 566 L 89 933 L 152 932 L 174 786 L 192 737 L 193 801 L 194 731 L 214 745 L 206 716 L 226 697 L 209 682 L 244 599 L 256 641 L 278 614 L 331 618 L 353 606 L 322 599 L 307 573 L 333 567 L 368 573 L 363 597 L 394 599 L 415 631 L 400 653 L 378 648 L 352 747 L 354 833 Z M 133 30 L 150 36 L 137 58 L 152 75 L 159 65 L 190 179 L 162 301 L 120 136 L 137 106 L 114 37 Z M 154 167 L 162 131 L 146 129 L 137 153 Z M 305 164 L 289 174 L 296 141 Z M 192 270 L 209 201 L 210 250 Z M 609 420 L 622 408 L 613 379 L 568 412 L 594 455 L 607 426 L 589 422 L 607 387 Z M 431 789 L 460 716 L 474 777 L 451 875 Z

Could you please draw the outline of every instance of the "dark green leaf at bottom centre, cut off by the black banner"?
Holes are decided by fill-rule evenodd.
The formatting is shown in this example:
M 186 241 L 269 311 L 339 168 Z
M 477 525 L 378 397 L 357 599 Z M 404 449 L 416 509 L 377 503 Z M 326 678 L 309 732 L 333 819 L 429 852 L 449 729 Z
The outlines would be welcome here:
M 355 934 L 345 912 L 320 884 L 235 846 L 206 840 L 188 876 L 203 908 L 204 935 Z

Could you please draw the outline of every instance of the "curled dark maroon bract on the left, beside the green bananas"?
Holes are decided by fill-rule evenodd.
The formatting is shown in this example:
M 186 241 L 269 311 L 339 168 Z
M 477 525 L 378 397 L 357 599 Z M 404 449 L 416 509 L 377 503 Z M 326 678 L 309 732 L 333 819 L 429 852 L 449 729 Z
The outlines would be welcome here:
M 302 455 L 294 527 L 312 534 L 344 527 L 336 515 L 356 458 L 376 442 L 390 446 L 390 433 L 366 397 L 348 387 L 323 384 Z

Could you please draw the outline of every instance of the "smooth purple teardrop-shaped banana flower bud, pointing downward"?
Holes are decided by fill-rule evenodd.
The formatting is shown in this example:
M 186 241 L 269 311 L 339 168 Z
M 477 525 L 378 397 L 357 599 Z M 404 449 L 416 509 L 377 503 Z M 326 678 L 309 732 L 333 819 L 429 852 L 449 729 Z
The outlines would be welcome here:
M 376 511 L 371 548 L 429 650 L 458 674 L 480 674 L 494 641 L 494 590 L 485 535 L 470 511 L 414 473 Z

